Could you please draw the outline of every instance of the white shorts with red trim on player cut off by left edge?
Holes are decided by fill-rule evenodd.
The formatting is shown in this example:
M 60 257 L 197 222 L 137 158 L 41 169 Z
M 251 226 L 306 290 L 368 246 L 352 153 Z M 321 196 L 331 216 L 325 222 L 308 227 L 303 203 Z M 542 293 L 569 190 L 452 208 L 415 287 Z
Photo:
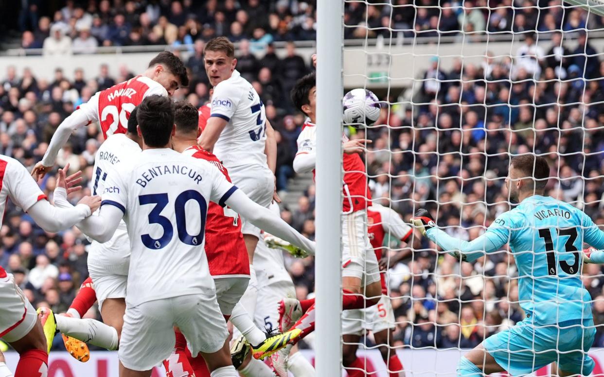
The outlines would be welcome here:
M 25 337 L 36 325 L 36 309 L 14 284 L 13 274 L 0 279 L 0 338 L 7 343 Z

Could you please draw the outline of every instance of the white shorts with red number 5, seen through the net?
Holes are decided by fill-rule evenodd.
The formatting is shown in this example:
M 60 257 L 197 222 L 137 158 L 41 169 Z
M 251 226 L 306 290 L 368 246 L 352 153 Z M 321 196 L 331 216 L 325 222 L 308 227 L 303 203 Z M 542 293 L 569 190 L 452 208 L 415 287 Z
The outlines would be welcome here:
M 367 309 L 342 311 L 342 334 L 363 335 L 364 330 L 374 334 L 396 328 L 390 297 L 382 296 L 376 305 Z

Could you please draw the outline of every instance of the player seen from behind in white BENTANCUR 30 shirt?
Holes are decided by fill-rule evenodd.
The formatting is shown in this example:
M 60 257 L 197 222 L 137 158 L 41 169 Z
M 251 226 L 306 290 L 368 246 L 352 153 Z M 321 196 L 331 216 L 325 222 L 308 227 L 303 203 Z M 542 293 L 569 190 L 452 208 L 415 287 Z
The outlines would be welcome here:
M 170 100 L 147 97 L 137 112 L 143 152 L 132 165 L 120 166 L 108 177 L 106 205 L 99 215 L 78 224 L 87 235 L 106 242 L 125 215 L 131 256 L 120 376 L 149 376 L 172 352 L 176 325 L 192 355 L 202 353 L 211 377 L 234 377 L 226 325 L 204 253 L 208 201 L 230 206 L 303 249 L 314 252 L 314 243 L 249 200 L 209 162 L 170 149 Z

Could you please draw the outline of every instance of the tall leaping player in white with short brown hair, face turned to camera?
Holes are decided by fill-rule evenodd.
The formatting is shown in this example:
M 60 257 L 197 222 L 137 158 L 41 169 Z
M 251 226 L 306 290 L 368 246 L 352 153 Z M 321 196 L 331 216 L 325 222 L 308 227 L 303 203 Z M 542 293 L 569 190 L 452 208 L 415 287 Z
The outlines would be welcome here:
M 218 157 L 234 185 L 255 203 L 268 208 L 275 189 L 277 146 L 271 125 L 266 121 L 265 107 L 254 87 L 236 71 L 234 55 L 233 43 L 225 37 L 211 39 L 205 45 L 205 71 L 214 91 L 210 118 L 199 145 Z M 242 233 L 248 251 L 250 279 L 241 302 L 253 317 L 257 280 L 252 262 L 260 229 L 242 216 Z M 266 335 L 253 325 L 248 313 L 239 312 L 237 307 L 231 322 L 237 328 L 249 329 L 243 334 L 249 343 L 265 341 Z

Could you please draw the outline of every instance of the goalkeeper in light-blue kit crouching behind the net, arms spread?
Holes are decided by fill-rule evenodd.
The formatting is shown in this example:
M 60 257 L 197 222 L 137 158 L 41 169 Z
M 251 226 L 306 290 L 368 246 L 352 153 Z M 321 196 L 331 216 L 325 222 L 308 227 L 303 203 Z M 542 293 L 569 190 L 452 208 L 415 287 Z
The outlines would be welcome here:
M 560 376 L 589 375 L 594 360 L 587 355 L 596 335 L 591 297 L 580 276 L 583 262 L 599 253 L 582 252 L 586 242 L 604 248 L 604 232 L 570 204 L 544 196 L 549 166 L 543 157 L 516 156 L 510 163 L 506 188 L 520 203 L 501 214 L 471 242 L 435 227 L 425 209 L 413 224 L 446 252 L 474 261 L 509 244 L 518 267 L 519 303 L 526 317 L 510 329 L 487 338 L 461 357 L 458 376 L 483 376 L 506 371 L 532 373 L 556 362 Z

